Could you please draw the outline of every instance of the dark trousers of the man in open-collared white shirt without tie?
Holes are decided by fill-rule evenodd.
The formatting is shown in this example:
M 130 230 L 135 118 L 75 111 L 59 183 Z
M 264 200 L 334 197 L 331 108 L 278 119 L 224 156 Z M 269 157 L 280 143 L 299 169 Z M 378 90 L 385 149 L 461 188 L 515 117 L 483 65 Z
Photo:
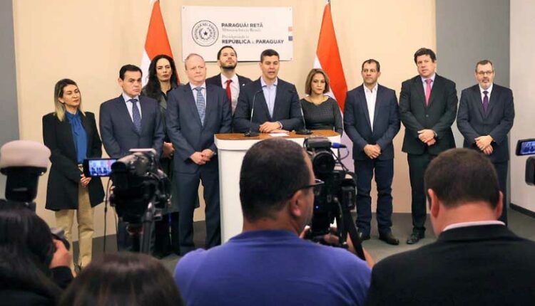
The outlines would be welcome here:
M 377 184 L 377 225 L 379 234 L 389 233 L 392 227 L 392 178 L 394 159 L 365 159 L 355 162 L 357 174 L 357 227 L 370 234 L 372 221 L 372 178 Z

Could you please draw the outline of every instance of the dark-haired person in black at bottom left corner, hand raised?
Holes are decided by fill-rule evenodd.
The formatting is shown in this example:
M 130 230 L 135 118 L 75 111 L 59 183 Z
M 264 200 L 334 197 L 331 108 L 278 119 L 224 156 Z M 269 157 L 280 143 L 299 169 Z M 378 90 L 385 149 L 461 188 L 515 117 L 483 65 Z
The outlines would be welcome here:
M 24 204 L 0 201 L 0 305 L 56 305 L 73 278 L 70 263 L 43 219 Z

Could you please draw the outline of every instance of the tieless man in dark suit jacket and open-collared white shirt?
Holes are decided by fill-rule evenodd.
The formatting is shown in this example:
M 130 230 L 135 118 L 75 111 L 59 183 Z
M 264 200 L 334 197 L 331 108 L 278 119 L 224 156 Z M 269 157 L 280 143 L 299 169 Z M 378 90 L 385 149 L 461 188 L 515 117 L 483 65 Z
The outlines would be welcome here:
M 379 239 L 397 245 L 392 234 L 392 178 L 394 146 L 399 132 L 399 108 L 394 90 L 377 83 L 381 65 L 377 60 L 362 63 L 364 83 L 347 93 L 344 110 L 345 132 L 353 142 L 357 174 L 357 227 L 362 240 L 370 239 L 372 220 L 372 178 L 377 183 L 377 224 Z

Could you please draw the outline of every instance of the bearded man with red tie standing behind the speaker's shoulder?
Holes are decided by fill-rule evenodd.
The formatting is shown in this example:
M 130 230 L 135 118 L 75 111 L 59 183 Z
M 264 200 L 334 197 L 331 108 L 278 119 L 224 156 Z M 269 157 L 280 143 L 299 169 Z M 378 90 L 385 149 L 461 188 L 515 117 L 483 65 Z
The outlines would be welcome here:
M 206 84 L 219 86 L 225 90 L 232 105 L 233 113 L 236 109 L 240 89 L 252 82 L 250 78 L 245 78 L 236 73 L 236 65 L 238 65 L 238 53 L 232 46 L 223 46 L 218 51 L 218 66 L 221 69 L 221 73 L 206 79 Z

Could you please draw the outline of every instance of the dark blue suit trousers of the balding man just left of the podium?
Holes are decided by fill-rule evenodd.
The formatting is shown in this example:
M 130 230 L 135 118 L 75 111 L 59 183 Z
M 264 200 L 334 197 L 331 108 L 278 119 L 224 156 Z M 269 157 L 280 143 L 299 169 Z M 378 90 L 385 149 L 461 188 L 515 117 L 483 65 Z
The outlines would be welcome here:
M 219 207 L 219 174 L 217 170 L 200 167 L 195 174 L 177 174 L 178 206 L 180 211 L 180 254 L 185 255 L 195 248 L 193 244 L 193 211 L 195 199 L 199 188 L 199 181 L 203 181 L 205 216 L 206 216 L 206 241 L 205 247 L 211 248 L 221 244 L 221 224 Z

